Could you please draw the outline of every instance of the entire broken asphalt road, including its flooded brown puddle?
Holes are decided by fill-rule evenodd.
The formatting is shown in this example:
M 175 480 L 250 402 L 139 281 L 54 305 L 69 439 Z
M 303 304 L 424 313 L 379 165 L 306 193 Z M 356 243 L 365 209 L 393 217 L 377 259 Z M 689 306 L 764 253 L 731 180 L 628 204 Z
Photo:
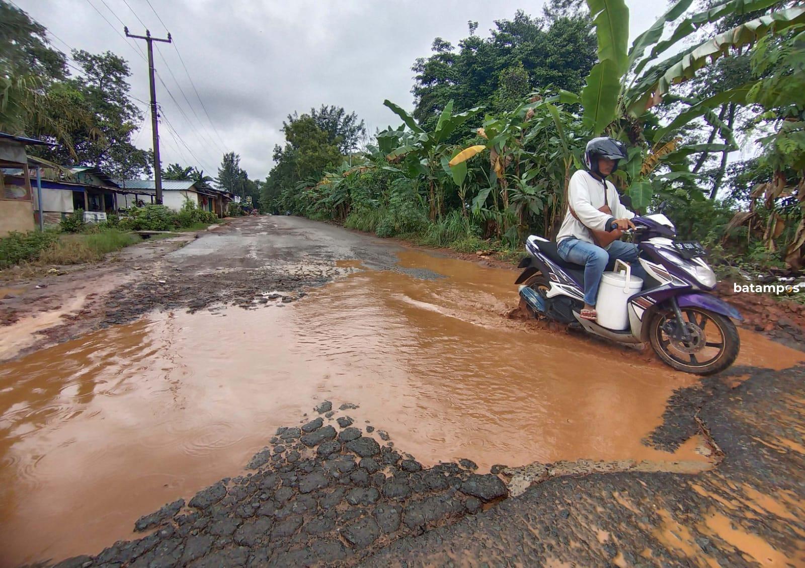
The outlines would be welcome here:
M 513 280 L 283 216 L 20 286 L 0 566 L 803 564 L 802 352 L 701 380 Z

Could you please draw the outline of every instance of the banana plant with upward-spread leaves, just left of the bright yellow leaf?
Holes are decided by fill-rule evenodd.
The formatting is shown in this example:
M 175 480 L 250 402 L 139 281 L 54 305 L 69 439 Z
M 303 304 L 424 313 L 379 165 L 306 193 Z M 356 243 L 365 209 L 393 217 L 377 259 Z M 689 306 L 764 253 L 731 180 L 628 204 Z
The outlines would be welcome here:
M 444 212 L 445 173 L 441 158 L 452 150 L 448 139 L 470 117 L 481 111 L 474 108 L 453 114 L 453 101 L 444 106 L 436 128 L 426 132 L 414 117 L 391 101 L 383 101 L 394 114 L 403 119 L 397 130 L 384 130 L 378 134 L 378 146 L 386 151 L 386 160 L 400 163 L 403 174 L 411 179 L 423 177 L 427 183 L 428 208 L 431 220 Z

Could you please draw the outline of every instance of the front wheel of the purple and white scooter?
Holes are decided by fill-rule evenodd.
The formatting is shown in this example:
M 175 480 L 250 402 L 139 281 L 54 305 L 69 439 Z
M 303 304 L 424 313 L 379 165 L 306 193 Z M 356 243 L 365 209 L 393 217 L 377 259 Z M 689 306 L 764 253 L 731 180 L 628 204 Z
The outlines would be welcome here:
M 649 323 L 651 347 L 665 363 L 679 371 L 712 375 L 733 364 L 741 338 L 731 319 L 698 307 L 682 309 L 688 339 L 675 339 L 673 312 L 658 312 Z

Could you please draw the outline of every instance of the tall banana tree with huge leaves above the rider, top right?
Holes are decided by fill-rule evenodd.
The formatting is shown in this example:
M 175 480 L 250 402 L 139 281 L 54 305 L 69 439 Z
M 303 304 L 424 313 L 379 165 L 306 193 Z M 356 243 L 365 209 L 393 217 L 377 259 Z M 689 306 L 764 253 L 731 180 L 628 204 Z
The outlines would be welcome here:
M 667 24 L 679 20 L 692 4 L 692 0 L 677 0 L 648 30 L 638 35 L 628 51 L 626 38 L 629 10 L 624 0 L 588 0 L 587 3 L 596 26 L 599 62 L 593 66 L 580 95 L 584 107 L 584 124 L 592 136 L 609 134 L 616 138 L 630 138 L 631 142 L 642 138 L 642 128 L 636 119 L 662 101 L 663 97 L 667 97 L 672 85 L 695 76 L 700 68 L 727 55 L 731 49 L 745 47 L 765 35 L 786 30 L 805 21 L 805 7 L 777 10 L 662 59 L 661 56 L 671 47 L 707 24 L 716 23 L 727 15 L 766 10 L 778 4 L 778 0 L 720 2 L 708 10 L 688 15 L 675 24 L 667 39 L 661 40 L 666 35 Z M 708 151 L 737 149 L 731 132 L 725 129 L 725 125 L 712 113 L 712 109 L 728 102 L 745 103 L 752 87 L 753 84 L 746 84 L 717 93 L 703 101 L 679 99 L 688 105 L 687 108 L 676 117 L 671 117 L 667 125 L 654 130 L 652 150 L 667 148 L 667 143 L 674 138 L 675 132 L 698 117 L 705 117 L 711 124 L 719 126 L 729 144 L 682 146 L 675 143 L 673 151 L 661 156 L 663 161 L 673 162 L 690 154 Z M 637 153 L 630 154 L 629 164 L 633 171 L 636 164 L 642 164 L 642 175 L 630 175 L 628 180 L 630 185 L 627 191 L 633 204 L 636 202 L 645 205 L 658 187 L 658 183 L 646 178 L 656 167 L 656 162 L 652 163 L 648 171 L 643 167 L 647 164 L 646 160 L 653 160 L 656 156 L 655 152 L 645 151 L 640 156 Z M 627 164 L 627 169 L 629 167 Z M 678 176 L 677 179 L 682 177 Z M 691 176 L 686 179 L 691 179 Z

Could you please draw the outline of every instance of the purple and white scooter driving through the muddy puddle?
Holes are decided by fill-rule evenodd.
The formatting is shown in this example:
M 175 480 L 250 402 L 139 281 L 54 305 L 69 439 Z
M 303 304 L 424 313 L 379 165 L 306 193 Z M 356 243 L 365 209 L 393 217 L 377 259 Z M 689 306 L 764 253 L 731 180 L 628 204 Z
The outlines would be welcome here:
M 728 368 L 741 348 L 732 319 L 743 318 L 734 307 L 708 294 L 716 287 L 716 274 L 704 261 L 704 247 L 696 241 L 675 241 L 674 224 L 662 212 L 635 216 L 632 222 L 635 228 L 627 233 L 638 245 L 638 261 L 648 276 L 642 289 L 625 301 L 626 318 L 622 302 L 602 304 L 606 299 L 601 291 L 597 303 L 599 319 L 602 311 L 615 306 L 626 322 L 623 329 L 581 318 L 584 266 L 564 261 L 554 242 L 536 235 L 526 240 L 529 256 L 520 261 L 519 268 L 525 270 L 515 282 L 522 301 L 535 315 L 608 340 L 649 342 L 663 362 L 679 371 L 710 375 Z M 630 282 L 630 267 L 617 263 L 625 267 L 625 282 Z M 628 287 L 624 290 L 629 293 Z

